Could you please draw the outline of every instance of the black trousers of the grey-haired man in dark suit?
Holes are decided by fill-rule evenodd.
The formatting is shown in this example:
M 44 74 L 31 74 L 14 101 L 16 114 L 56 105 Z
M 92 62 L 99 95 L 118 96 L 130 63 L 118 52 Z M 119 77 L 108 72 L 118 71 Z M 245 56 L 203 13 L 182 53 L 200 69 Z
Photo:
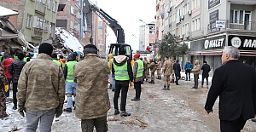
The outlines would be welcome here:
M 234 121 L 220 120 L 220 131 L 221 132 L 240 132 L 243 129 L 247 120 L 242 117 L 237 118 Z

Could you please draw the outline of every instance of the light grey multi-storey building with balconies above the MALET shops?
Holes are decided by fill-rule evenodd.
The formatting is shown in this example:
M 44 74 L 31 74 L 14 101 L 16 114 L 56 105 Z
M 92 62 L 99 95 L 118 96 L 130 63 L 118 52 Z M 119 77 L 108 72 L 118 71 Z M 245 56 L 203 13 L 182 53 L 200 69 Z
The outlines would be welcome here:
M 207 60 L 214 71 L 221 66 L 224 46 L 241 50 L 240 60 L 252 64 L 256 58 L 255 0 L 166 0 L 164 31 L 187 43 L 186 60 Z

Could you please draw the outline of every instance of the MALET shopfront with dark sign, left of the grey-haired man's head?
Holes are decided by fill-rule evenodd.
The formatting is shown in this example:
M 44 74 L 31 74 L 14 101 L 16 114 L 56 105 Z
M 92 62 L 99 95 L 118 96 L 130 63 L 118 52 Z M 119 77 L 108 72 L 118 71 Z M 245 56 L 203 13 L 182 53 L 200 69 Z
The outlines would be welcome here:
M 191 62 L 200 60 L 200 64 L 206 60 L 208 65 L 211 66 L 211 71 L 214 72 L 219 66 L 221 66 L 222 49 L 225 46 L 226 35 L 208 37 L 193 41 L 190 43 L 189 55 L 191 56 Z

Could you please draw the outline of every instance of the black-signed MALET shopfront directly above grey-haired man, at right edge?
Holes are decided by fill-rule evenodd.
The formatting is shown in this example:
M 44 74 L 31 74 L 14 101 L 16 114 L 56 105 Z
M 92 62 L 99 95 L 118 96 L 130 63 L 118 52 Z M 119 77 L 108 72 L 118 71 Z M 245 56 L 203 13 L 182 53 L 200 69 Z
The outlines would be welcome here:
M 256 37 L 230 35 L 228 45 L 240 49 L 239 60 L 246 60 L 249 65 L 256 60 Z

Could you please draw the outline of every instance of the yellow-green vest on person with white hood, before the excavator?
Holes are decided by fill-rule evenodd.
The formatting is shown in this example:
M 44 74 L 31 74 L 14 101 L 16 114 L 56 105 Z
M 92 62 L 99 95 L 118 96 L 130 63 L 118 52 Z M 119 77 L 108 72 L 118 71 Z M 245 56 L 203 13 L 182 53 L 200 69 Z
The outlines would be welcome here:
M 117 66 L 113 63 L 113 69 L 114 69 L 115 80 L 119 80 L 119 81 L 130 80 L 130 77 L 128 74 L 128 68 L 127 68 L 127 61 L 123 66 Z

